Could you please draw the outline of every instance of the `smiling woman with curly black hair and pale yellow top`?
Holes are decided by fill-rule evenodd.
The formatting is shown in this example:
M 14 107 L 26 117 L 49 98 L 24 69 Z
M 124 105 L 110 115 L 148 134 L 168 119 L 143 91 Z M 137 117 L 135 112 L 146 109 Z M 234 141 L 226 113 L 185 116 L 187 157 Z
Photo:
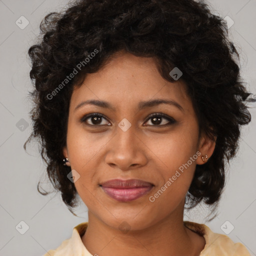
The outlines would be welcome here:
M 88 208 L 45 255 L 249 255 L 183 221 L 214 210 L 250 121 L 224 21 L 193 0 L 79 0 L 40 29 L 28 141 L 69 210 Z

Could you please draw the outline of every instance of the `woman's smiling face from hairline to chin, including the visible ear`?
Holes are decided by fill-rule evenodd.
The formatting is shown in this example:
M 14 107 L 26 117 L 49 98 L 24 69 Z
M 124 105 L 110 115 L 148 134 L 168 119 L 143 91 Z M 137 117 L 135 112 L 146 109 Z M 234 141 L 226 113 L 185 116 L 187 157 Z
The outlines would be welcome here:
M 152 58 L 120 52 L 87 74 L 71 95 L 63 154 L 89 216 L 133 230 L 182 218 L 200 155 L 214 149 L 198 132 L 185 84 L 163 79 Z

